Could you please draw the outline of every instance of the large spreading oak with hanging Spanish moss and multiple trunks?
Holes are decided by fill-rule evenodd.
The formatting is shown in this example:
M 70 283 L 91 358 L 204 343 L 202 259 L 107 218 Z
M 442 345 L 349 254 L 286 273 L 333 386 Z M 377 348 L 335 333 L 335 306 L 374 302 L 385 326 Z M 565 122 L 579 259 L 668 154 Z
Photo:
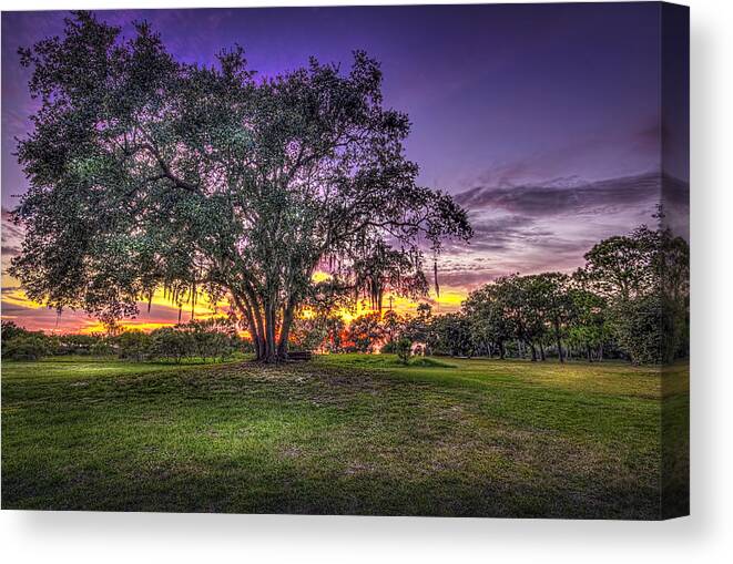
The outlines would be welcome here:
M 427 290 L 424 246 L 471 235 L 448 195 L 416 184 L 408 117 L 383 107 L 363 52 L 347 74 L 312 59 L 255 80 L 240 48 L 183 63 L 146 23 L 125 40 L 75 12 L 20 54 L 41 104 L 18 145 L 30 188 L 11 271 L 51 307 L 111 322 L 157 288 L 180 308 L 227 296 L 275 360 L 316 268 L 378 306 Z

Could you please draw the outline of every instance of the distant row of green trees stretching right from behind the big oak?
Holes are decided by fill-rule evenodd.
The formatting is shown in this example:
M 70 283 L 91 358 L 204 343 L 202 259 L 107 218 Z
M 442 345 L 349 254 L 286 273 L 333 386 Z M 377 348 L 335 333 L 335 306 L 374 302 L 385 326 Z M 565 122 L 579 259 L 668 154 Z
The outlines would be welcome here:
M 327 310 L 298 319 L 295 345 L 332 352 L 395 352 L 419 345 L 460 357 L 548 357 L 662 363 L 689 352 L 689 246 L 669 229 L 637 228 L 593 246 L 571 275 L 502 276 L 461 309 L 369 312 L 346 327 Z M 406 352 L 407 351 L 407 352 Z

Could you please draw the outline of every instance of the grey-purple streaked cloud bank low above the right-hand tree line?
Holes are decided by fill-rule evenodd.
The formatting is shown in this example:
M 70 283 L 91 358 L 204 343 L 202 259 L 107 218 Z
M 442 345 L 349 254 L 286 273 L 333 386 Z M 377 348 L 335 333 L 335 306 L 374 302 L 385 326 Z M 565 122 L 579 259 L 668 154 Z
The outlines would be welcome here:
M 652 225 L 663 199 L 671 203 L 665 204 L 668 221 L 683 225 L 688 197 L 685 182 L 659 173 L 519 185 L 479 180 L 456 195 L 470 211 L 475 237 L 469 245 L 448 247 L 441 277 L 470 289 L 511 273 L 570 271 L 583 264 L 584 253 L 598 240 Z

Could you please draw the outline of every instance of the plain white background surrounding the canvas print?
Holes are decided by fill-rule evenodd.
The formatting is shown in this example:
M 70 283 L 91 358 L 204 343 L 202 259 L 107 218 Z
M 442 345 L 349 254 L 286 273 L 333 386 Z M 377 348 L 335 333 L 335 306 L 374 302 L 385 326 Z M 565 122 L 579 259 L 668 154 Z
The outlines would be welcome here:
M 297 3 L 220 0 L 210 6 Z M 733 2 L 685 3 L 692 18 L 691 517 L 639 523 L 2 511 L 4 562 L 731 562 Z M 206 2 L 0 0 L 0 6 L 183 8 Z

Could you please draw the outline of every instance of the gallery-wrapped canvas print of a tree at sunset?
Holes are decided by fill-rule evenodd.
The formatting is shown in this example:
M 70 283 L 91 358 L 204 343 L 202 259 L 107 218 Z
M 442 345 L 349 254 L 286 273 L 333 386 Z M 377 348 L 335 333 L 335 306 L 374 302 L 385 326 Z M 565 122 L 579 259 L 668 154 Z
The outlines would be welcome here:
M 689 513 L 689 11 L 2 13 L 2 509 Z

